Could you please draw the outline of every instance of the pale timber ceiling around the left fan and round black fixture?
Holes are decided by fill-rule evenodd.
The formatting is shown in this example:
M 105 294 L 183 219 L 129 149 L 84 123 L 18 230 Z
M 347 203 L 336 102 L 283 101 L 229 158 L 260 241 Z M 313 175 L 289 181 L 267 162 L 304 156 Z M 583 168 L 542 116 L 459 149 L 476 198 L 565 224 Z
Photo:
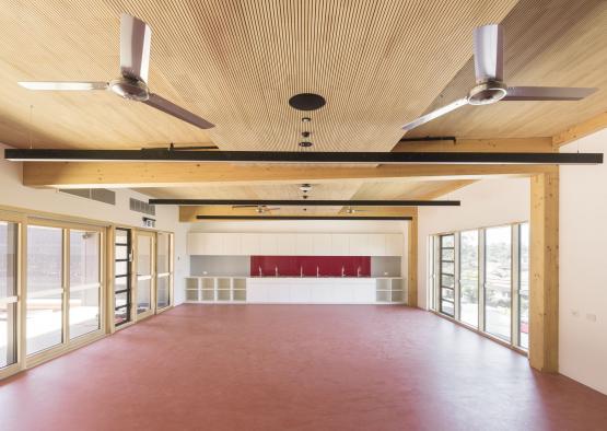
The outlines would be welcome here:
M 318 92 L 315 150 L 389 151 L 471 55 L 471 30 L 515 0 L 0 0 L 0 137 L 27 147 L 147 147 L 213 141 L 294 150 Z M 32 93 L 19 80 L 109 80 L 119 13 L 152 27 L 150 86 L 218 125 L 209 132 L 109 93 Z

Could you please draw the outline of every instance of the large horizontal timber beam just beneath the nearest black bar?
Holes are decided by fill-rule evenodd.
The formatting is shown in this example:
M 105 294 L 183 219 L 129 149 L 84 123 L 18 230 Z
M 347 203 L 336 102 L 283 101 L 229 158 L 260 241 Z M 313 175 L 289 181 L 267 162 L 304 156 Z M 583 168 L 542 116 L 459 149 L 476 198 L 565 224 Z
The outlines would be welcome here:
M 553 165 L 420 164 L 380 166 L 301 166 L 230 163 L 85 163 L 26 162 L 23 184 L 55 188 L 179 187 L 201 184 L 255 185 L 395 180 L 413 178 L 481 179 L 488 176 L 529 176 L 549 172 Z

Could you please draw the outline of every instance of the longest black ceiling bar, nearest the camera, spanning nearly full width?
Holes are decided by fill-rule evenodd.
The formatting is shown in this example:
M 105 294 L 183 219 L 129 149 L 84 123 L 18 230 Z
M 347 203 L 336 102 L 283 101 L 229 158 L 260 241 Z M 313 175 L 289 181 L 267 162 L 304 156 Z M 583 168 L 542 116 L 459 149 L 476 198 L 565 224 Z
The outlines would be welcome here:
M 226 162 L 363 164 L 599 164 L 603 153 L 314 152 L 7 149 L 20 162 Z

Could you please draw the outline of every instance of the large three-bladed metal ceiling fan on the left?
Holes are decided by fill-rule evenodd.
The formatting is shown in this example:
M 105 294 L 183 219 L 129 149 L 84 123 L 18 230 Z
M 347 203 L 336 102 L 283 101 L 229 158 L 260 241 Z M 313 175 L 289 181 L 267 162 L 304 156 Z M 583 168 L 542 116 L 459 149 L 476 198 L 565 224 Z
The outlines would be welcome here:
M 120 15 L 120 77 L 109 82 L 103 81 L 35 81 L 19 82 L 28 90 L 87 91 L 110 90 L 120 97 L 143 102 L 201 129 L 210 129 L 213 124 L 168 102 L 148 90 L 150 68 L 150 40 L 152 31 L 143 21 L 122 13 Z

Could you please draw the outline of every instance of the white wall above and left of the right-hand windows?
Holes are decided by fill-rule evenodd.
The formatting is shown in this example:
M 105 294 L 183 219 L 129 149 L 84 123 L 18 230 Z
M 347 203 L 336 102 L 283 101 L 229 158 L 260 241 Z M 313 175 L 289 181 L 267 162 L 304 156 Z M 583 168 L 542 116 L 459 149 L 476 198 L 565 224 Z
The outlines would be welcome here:
M 529 179 L 482 179 L 450 194 L 460 207 L 420 207 L 418 305 L 428 308 L 428 237 L 436 233 L 507 224 L 529 219 Z

